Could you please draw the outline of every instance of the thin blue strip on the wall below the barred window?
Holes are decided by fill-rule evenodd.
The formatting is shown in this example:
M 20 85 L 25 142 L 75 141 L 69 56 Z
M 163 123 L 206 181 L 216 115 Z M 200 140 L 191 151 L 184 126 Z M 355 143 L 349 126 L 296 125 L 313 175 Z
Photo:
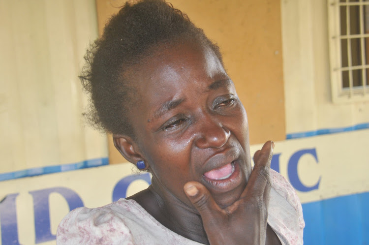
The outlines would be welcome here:
M 369 122 L 360 123 L 360 124 L 349 126 L 349 127 L 323 128 L 323 129 L 318 129 L 315 131 L 290 133 L 286 135 L 286 139 L 287 140 L 298 139 L 298 138 L 312 137 L 312 136 L 317 136 L 317 135 L 322 135 L 322 134 L 340 133 L 340 132 L 355 131 L 355 130 L 367 129 L 367 128 L 369 128 Z

